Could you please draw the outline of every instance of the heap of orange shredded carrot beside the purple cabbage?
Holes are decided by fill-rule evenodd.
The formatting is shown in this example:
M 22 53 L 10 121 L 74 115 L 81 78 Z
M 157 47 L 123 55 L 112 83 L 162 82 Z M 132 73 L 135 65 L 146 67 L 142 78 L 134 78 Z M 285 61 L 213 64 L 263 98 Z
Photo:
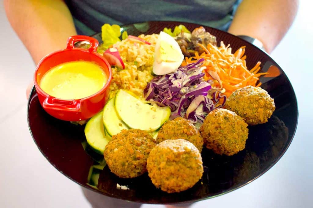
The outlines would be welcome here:
M 216 89 L 225 89 L 222 95 L 229 97 L 233 91 L 247 85 L 259 87 L 262 83 L 259 82 L 259 76 L 268 73 L 258 73 L 261 69 L 261 62 L 258 61 L 256 65 L 248 70 L 246 66 L 246 58 L 244 55 L 245 46 L 240 47 L 235 53 L 231 52 L 231 47 L 225 46 L 221 41 L 221 46 L 216 47 L 208 44 L 207 47 L 198 44 L 204 52 L 202 54 L 195 53 L 195 56 L 187 58 L 183 61 L 182 65 L 194 63 L 196 60 L 204 58 L 203 65 L 205 69 L 205 80 L 213 80 L 212 87 Z M 215 73 L 214 73 L 215 72 Z M 220 80 L 217 80 L 216 74 Z M 214 77 L 212 77 L 212 76 Z

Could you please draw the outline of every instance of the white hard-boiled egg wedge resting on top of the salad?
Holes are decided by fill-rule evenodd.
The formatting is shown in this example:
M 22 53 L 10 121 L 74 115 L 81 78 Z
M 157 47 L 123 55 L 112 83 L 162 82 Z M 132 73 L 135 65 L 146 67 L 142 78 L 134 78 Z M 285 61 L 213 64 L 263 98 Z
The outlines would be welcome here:
M 165 32 L 160 32 L 154 51 L 152 71 L 156 75 L 165 75 L 178 69 L 184 55 L 175 39 Z

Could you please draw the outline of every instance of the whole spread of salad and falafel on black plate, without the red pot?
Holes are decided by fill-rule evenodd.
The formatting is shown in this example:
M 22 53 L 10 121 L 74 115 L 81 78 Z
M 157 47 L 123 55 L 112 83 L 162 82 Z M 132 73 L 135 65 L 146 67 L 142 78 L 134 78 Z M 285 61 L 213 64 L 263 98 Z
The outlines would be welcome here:
M 163 191 L 184 191 L 203 173 L 202 148 L 195 145 L 232 156 L 245 148 L 247 126 L 273 114 L 274 100 L 259 88 L 259 77 L 267 73 L 259 73 L 260 62 L 247 68 L 244 46 L 232 53 L 203 27 L 191 32 L 179 25 L 138 37 L 121 31 L 117 25 L 102 27 L 98 53 L 112 66 L 110 100 L 85 127 L 87 143 L 104 154 L 115 175 L 148 171 Z M 172 162 L 173 155 L 193 159 Z M 171 172 L 178 169 L 197 170 L 197 176 Z M 173 175 L 170 184 L 164 181 Z M 181 183 L 187 179 L 192 182 Z

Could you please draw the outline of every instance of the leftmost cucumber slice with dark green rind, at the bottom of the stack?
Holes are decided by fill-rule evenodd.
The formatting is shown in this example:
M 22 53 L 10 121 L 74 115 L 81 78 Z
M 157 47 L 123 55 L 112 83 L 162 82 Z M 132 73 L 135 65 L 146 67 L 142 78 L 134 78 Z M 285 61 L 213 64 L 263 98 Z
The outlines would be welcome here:
M 92 117 L 85 126 L 87 143 L 100 154 L 103 154 L 105 145 L 111 140 L 111 138 L 105 134 L 102 116 L 103 111 L 100 111 Z

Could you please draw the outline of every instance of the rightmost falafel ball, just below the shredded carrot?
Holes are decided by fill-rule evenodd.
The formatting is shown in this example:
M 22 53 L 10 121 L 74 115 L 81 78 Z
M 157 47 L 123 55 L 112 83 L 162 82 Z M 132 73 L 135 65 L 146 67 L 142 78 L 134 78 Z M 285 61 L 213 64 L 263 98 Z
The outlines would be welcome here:
M 235 112 L 249 125 L 256 125 L 267 122 L 275 110 L 275 103 L 266 90 L 245 86 L 228 97 L 225 108 Z

